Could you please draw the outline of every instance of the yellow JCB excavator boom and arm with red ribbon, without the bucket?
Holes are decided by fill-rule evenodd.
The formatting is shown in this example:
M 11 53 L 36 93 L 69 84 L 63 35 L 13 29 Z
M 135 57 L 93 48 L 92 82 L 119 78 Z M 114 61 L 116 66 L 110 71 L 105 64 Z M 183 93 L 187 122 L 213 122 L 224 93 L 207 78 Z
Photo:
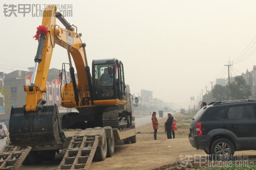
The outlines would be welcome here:
M 48 29 L 49 33 L 46 35 L 40 34 L 37 53 L 34 59 L 35 67 L 31 85 L 24 86 L 24 91 L 26 92 L 26 112 L 39 111 L 42 109 L 42 105 L 45 104 L 43 95 L 46 92 L 46 81 L 55 44 L 66 48 L 69 57 L 71 54 L 76 66 L 79 86 L 82 88 L 92 86 L 91 74 L 89 73 L 86 59 L 85 44 L 82 43 L 80 36 L 74 32 L 74 28 L 72 28 L 72 26 L 63 18 L 62 14 L 56 11 L 56 6 L 47 6 L 44 10 L 44 14 L 42 25 Z M 56 18 L 60 20 L 66 29 L 56 25 Z M 62 56 L 58 57 L 61 61 Z M 74 74 L 72 65 L 70 71 L 72 77 L 72 74 Z M 74 89 L 73 101 L 76 103 L 75 106 L 78 106 L 80 102 L 77 94 L 77 84 L 75 82 L 75 77 L 72 78 Z M 90 87 L 89 89 L 92 88 Z M 91 93 L 89 95 L 91 95 Z

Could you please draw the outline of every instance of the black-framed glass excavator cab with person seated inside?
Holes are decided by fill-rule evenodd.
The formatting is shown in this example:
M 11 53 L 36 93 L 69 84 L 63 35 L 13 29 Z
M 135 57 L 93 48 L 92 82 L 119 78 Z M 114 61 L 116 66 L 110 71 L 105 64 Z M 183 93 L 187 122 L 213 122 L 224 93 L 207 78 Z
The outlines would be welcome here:
M 124 67 L 117 59 L 93 60 L 94 105 L 123 106 L 127 103 Z

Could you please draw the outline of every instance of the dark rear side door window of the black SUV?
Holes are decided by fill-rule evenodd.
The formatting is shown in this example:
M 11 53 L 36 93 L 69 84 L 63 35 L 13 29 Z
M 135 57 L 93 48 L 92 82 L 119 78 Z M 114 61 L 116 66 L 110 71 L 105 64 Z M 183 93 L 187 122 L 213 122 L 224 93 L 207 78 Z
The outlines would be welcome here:
M 251 119 L 255 118 L 253 105 L 232 106 L 228 109 L 226 119 Z

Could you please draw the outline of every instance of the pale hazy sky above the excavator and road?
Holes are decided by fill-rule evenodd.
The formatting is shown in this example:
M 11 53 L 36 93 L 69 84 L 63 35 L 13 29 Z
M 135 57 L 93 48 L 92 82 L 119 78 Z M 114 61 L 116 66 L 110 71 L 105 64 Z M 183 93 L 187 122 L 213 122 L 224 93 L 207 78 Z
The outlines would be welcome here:
M 2 1 L 1 11 L 4 3 L 17 5 L 21 1 Z M 204 86 L 210 89 L 208 82 L 215 81 L 229 57 L 235 59 L 256 35 L 256 1 L 22 3 L 72 4 L 73 17 L 66 19 L 82 33 L 90 67 L 93 59 L 116 57 L 124 63 L 125 81 L 132 92 L 151 90 L 154 97 L 174 103 L 189 102 L 189 97 L 197 97 Z M 42 17 L 32 17 L 31 13 L 25 17 L 17 15 L 0 15 L 0 71 L 7 73 L 10 70 L 3 67 L 10 69 L 11 64 L 2 59 L 21 63 L 22 68 L 34 65 L 37 41 L 32 37 L 42 23 Z M 64 28 L 58 20 L 56 23 Z M 252 70 L 255 55 L 233 67 L 240 72 Z M 67 51 L 56 45 L 50 68 L 60 68 L 62 62 L 68 62 Z M 227 73 L 223 71 L 219 78 L 222 77 L 227 77 Z M 189 103 L 184 103 L 184 107 Z

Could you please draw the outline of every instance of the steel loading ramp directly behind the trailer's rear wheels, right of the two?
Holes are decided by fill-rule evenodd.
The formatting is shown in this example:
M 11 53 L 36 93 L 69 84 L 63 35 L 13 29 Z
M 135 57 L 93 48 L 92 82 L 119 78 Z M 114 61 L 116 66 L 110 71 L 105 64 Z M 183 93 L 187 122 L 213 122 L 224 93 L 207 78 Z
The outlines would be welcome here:
M 78 133 L 72 137 L 69 147 L 57 170 L 88 170 L 93 161 L 102 133 L 103 131 L 98 130 L 78 131 Z

